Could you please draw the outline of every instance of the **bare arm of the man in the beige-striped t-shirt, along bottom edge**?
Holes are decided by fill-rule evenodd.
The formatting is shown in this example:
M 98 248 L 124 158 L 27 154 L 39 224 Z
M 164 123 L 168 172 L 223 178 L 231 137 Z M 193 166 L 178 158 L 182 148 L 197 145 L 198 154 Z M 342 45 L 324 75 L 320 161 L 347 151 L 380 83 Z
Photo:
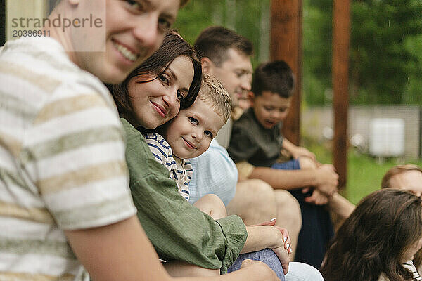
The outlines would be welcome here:
M 279 280 L 273 270 L 258 261 L 245 261 L 240 270 L 222 276 L 172 278 L 158 261 L 136 216 L 109 226 L 68 230 L 65 234 L 94 281 Z

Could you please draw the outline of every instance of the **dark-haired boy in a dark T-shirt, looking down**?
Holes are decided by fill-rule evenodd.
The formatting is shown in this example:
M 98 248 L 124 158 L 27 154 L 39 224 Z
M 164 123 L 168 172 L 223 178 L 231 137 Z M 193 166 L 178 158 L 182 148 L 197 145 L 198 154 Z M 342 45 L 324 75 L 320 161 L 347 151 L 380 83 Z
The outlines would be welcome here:
M 298 184 L 296 190 L 278 184 L 279 178 L 286 176 L 279 174 L 279 170 L 316 169 L 321 166 L 312 152 L 293 145 L 281 135 L 294 84 L 293 72 L 283 61 L 257 67 L 250 93 L 252 107 L 234 122 L 228 152 L 238 167 L 240 177 L 260 178 L 273 188 L 289 190 L 298 200 L 304 223 L 298 237 L 295 260 L 319 268 L 326 242 L 333 236 L 333 227 L 328 212 L 316 205 L 326 204 L 335 190 L 319 186 L 308 193 L 309 188 L 298 189 Z M 293 159 L 279 163 L 282 149 L 288 150 Z M 333 169 L 331 165 L 322 166 Z M 292 174 L 291 180 L 299 182 L 300 174 Z

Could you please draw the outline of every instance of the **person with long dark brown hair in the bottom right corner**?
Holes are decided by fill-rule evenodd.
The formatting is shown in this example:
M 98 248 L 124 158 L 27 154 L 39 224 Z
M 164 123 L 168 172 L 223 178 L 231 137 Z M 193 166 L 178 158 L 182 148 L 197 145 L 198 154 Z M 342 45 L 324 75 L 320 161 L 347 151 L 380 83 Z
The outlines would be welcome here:
M 411 261 L 421 245 L 421 197 L 378 190 L 339 228 L 321 273 L 326 281 L 421 280 Z

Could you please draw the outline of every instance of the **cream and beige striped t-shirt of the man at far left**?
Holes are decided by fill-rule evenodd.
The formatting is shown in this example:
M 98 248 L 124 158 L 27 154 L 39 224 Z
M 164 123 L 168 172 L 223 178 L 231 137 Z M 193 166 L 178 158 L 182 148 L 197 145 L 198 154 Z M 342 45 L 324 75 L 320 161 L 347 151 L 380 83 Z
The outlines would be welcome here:
M 0 50 L 0 280 L 88 280 L 63 230 L 136 212 L 113 98 L 49 37 Z

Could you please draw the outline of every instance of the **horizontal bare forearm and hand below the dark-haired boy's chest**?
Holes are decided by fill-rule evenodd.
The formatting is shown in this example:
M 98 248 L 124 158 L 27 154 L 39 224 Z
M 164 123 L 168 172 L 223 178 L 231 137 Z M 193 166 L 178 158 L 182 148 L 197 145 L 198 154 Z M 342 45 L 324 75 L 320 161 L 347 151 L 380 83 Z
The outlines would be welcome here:
M 255 167 L 249 178 L 259 178 L 275 189 L 291 190 L 314 186 L 326 195 L 337 191 L 338 174 L 330 164 L 324 164 L 314 170 L 281 170 L 267 167 Z

